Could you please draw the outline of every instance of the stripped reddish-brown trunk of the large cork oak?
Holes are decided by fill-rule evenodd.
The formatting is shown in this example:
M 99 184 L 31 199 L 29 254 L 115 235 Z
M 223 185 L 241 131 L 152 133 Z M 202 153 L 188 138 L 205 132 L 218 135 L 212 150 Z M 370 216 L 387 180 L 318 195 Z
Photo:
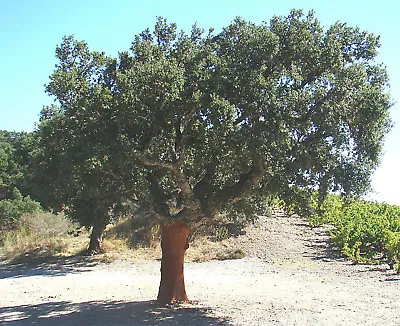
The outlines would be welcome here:
M 161 303 L 188 301 L 185 291 L 183 264 L 189 248 L 189 227 L 180 220 L 162 225 L 161 282 L 157 300 Z

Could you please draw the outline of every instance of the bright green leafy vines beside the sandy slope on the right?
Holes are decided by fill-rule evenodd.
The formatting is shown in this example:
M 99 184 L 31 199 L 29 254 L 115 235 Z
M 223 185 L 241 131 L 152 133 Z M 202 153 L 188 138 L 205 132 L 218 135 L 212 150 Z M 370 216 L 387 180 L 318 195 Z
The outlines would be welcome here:
M 400 268 L 400 207 L 362 200 L 346 202 L 330 195 L 313 225 L 331 224 L 334 244 L 355 262 L 385 259 Z

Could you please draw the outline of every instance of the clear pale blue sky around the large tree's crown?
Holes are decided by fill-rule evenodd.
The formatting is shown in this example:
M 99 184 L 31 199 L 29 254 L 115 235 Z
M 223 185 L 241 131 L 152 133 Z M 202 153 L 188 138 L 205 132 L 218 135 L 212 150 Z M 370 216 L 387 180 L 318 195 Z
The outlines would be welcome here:
M 64 35 L 74 34 L 93 50 L 116 55 L 134 36 L 163 16 L 178 28 L 195 22 L 216 31 L 236 16 L 254 23 L 292 8 L 314 10 L 328 27 L 336 21 L 381 36 L 378 60 L 391 79 L 395 127 L 373 177 L 372 199 L 400 205 L 400 1 L 398 0 L 0 0 L 0 130 L 32 131 L 43 105 L 52 100 L 44 84 L 54 70 L 54 51 Z

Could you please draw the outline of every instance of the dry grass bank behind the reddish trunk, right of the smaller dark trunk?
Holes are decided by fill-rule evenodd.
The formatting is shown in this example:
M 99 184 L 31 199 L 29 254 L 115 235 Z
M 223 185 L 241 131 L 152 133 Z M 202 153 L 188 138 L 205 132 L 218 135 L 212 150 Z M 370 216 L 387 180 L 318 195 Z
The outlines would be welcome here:
M 208 222 L 189 235 L 186 261 L 204 262 L 213 259 L 240 259 L 244 252 L 226 241 L 242 234 L 243 225 Z M 105 233 L 101 261 L 116 259 L 129 261 L 154 260 L 161 258 L 161 230 L 154 220 L 146 216 L 137 219 L 122 219 L 110 226 Z

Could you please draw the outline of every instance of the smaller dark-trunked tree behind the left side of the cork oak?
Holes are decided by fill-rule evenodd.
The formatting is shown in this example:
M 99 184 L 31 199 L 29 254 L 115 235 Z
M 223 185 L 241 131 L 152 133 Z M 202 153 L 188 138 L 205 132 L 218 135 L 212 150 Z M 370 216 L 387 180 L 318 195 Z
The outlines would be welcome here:
M 42 187 L 39 193 L 45 207 L 63 209 L 69 218 L 92 229 L 88 246 L 92 255 L 102 252 L 103 232 L 122 214 L 127 191 L 109 164 L 111 149 L 95 136 L 88 141 L 80 132 L 96 134 L 57 106 L 42 110 L 35 180 Z

